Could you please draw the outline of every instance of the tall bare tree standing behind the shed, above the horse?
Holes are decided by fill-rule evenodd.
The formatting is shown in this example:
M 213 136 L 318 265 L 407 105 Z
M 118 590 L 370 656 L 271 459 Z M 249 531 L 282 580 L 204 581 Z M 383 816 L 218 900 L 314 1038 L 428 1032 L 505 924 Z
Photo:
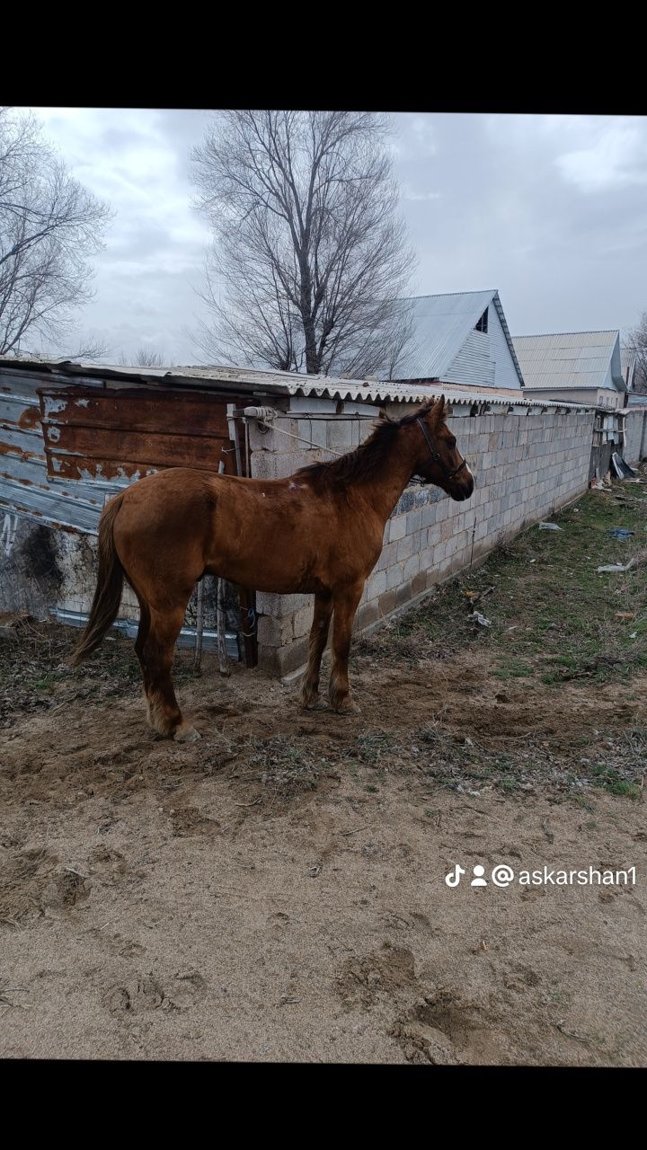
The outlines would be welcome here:
M 197 336 L 212 361 L 388 371 L 413 266 L 388 132 L 365 112 L 219 114 L 192 152 L 214 236 L 213 324 Z

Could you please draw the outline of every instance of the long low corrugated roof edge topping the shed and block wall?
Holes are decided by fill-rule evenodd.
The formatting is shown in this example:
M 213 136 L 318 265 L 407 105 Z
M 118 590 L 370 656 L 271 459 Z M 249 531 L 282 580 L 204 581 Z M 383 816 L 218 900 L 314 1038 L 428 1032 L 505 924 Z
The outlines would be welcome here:
M 489 293 L 484 293 L 489 294 Z M 482 313 L 481 313 L 482 314 Z M 577 404 L 558 400 L 525 399 L 518 389 L 493 389 L 457 386 L 452 383 L 437 381 L 433 384 L 395 383 L 379 379 L 341 379 L 324 375 L 300 375 L 295 371 L 257 370 L 237 367 L 172 367 L 172 368 L 130 368 L 112 367 L 100 363 L 83 363 L 64 361 L 21 360 L 0 356 L 0 373 L 28 373 L 39 377 L 40 385 L 48 382 L 48 376 L 58 377 L 56 383 L 81 383 L 86 379 L 119 379 L 132 384 L 135 381 L 158 382 L 166 386 L 192 386 L 220 392 L 249 392 L 250 396 L 303 396 L 337 400 L 357 400 L 364 402 L 385 404 L 420 404 L 425 399 L 442 392 L 456 405 L 489 405 L 490 407 L 573 407 Z M 52 381 L 54 382 L 54 381 Z

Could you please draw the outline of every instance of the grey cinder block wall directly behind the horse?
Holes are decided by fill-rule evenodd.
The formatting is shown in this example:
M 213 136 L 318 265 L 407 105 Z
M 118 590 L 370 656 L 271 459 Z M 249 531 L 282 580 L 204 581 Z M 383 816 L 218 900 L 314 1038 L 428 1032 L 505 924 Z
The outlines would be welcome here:
M 340 409 L 342 408 L 343 409 Z M 252 475 L 280 478 L 365 439 L 378 407 L 292 399 L 276 430 L 250 434 Z M 394 417 L 411 411 L 389 405 Z M 314 419 L 325 415 L 327 419 Z M 311 416 L 309 419 L 309 416 Z M 449 425 L 475 475 L 469 503 L 455 503 L 437 488 L 408 488 L 385 530 L 385 546 L 367 580 L 356 620 L 364 630 L 423 596 L 497 543 L 513 537 L 586 491 L 593 412 L 543 415 L 452 415 Z M 289 431 L 321 446 L 309 448 L 281 435 Z M 312 596 L 257 595 L 259 665 L 276 675 L 300 668 L 307 658 Z

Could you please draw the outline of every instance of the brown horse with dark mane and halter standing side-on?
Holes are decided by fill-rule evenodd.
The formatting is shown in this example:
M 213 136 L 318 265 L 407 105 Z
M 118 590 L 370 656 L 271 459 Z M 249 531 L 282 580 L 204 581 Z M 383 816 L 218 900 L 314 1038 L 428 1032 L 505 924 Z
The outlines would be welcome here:
M 446 424 L 444 397 L 398 421 L 382 415 L 355 451 L 286 480 L 189 468 L 139 480 L 101 514 L 97 590 L 74 662 L 94 651 L 116 619 L 125 576 L 139 600 L 135 650 L 149 722 L 181 742 L 199 738 L 182 718 L 170 668 L 191 591 L 208 572 L 258 591 L 313 593 L 303 705 L 326 706 L 319 668 L 334 613 L 330 706 L 358 711 L 348 682 L 352 621 L 385 524 L 414 475 L 452 499 L 472 494 L 472 473 Z

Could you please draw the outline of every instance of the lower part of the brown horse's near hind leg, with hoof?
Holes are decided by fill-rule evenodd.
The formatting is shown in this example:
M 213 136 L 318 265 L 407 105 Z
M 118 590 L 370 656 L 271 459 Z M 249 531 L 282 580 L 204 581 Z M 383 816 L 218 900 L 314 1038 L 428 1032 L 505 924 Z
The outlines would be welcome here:
M 151 727 L 166 738 L 192 743 L 200 736 L 195 727 L 182 718 L 170 677 L 175 644 L 185 611 L 187 603 L 169 607 L 165 612 L 149 607 L 149 627 L 146 629 L 146 620 L 142 615 L 135 646 L 142 664 Z

